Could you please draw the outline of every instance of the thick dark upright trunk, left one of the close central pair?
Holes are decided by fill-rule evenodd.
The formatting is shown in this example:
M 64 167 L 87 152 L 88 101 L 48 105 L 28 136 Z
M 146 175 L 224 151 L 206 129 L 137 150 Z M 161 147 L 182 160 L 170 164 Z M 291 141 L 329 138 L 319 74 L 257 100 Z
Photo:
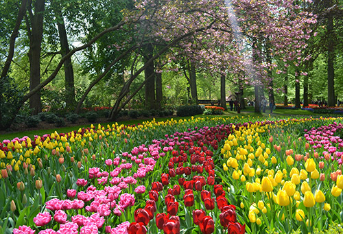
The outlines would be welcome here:
M 154 53 L 154 48 L 152 47 L 151 44 L 147 45 L 147 58 L 146 61 L 150 60 L 153 56 Z M 145 80 L 154 73 L 154 62 L 150 62 L 150 64 L 145 68 L 144 70 L 144 75 L 145 75 Z M 154 109 L 156 108 L 155 106 L 155 79 L 150 79 L 147 80 L 145 84 L 145 104 L 146 108 L 149 109 Z

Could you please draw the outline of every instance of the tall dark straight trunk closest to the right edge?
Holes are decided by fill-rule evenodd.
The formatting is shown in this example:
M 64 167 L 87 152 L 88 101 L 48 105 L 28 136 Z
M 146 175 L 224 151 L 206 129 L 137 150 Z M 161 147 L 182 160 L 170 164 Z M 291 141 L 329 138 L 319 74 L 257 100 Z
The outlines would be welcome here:
M 330 6 L 332 5 L 332 1 Z M 328 106 L 335 106 L 335 71 L 333 69 L 333 62 L 335 60 L 335 42 L 333 38 L 333 16 L 327 16 L 327 35 L 329 37 L 327 48 L 327 104 Z

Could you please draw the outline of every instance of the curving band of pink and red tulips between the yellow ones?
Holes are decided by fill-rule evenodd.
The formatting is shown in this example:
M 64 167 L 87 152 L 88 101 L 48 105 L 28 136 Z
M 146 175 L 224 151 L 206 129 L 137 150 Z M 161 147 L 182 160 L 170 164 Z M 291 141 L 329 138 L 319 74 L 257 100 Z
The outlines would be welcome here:
M 231 130 L 230 124 L 176 132 L 106 154 L 67 197 L 47 200 L 33 226 L 13 233 L 245 233 L 213 163 Z

